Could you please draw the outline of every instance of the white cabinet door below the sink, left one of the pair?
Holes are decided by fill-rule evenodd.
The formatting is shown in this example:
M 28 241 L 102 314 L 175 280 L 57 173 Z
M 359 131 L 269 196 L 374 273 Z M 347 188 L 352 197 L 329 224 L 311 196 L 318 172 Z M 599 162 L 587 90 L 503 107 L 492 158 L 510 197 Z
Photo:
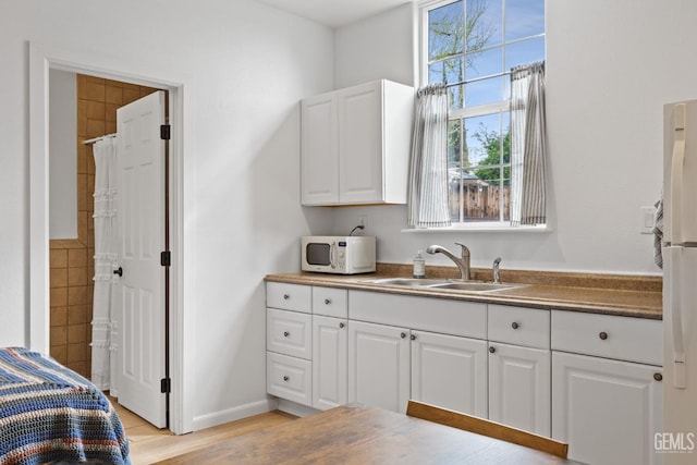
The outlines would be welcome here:
M 406 412 L 409 400 L 407 329 L 348 321 L 348 402 Z

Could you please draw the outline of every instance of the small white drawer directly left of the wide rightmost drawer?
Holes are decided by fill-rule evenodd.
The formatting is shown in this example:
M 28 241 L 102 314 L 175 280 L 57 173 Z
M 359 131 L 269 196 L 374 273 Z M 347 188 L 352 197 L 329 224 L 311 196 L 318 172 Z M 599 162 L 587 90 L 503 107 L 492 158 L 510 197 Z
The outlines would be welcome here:
M 549 348 L 549 310 L 489 304 L 489 340 Z

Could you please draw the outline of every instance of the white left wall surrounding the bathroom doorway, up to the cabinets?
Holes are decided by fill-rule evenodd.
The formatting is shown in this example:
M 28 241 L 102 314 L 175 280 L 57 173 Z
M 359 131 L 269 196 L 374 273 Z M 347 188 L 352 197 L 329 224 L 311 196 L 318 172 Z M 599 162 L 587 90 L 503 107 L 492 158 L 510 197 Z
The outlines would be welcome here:
M 332 87 L 332 32 L 250 0 L 0 0 L 0 345 L 28 339 L 28 41 L 191 76 L 194 427 L 266 402 L 262 278 L 331 221 L 299 206 L 298 100 Z

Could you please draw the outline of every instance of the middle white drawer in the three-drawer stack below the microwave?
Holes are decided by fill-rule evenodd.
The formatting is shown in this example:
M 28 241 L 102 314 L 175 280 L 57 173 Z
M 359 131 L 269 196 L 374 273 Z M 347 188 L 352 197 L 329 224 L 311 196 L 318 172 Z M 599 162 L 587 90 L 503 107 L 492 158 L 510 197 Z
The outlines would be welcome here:
M 266 348 L 280 354 L 311 359 L 313 316 L 267 308 Z

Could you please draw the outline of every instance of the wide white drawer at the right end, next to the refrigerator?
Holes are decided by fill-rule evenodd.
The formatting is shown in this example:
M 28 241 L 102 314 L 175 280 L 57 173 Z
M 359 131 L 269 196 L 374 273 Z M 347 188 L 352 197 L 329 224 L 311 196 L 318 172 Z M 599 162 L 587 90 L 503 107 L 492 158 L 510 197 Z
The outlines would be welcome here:
M 552 310 L 552 350 L 663 365 L 662 321 Z

